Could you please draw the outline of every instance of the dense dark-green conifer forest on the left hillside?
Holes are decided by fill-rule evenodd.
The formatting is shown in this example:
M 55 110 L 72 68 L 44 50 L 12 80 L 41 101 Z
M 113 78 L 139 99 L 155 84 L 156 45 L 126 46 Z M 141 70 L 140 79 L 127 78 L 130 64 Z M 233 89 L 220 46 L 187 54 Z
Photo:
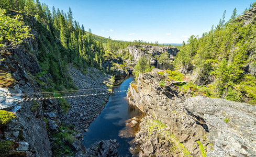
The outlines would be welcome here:
M 125 49 L 128 45 L 163 46 L 158 42 L 116 41 L 110 37 L 103 38 L 93 35 L 91 29 L 85 31 L 83 25 L 73 20 L 71 8 L 68 13 L 64 13 L 63 10 L 53 7 L 51 12 L 48 6 L 41 4 L 39 0 L 0 1 L 0 8 L 5 9 L 1 11 L 2 19 L 4 16 L 12 18 L 19 16 L 18 20 L 24 21 L 25 25 L 29 26 L 27 30 L 30 31 L 30 34 L 28 36 L 27 32 L 27 37 L 29 39 L 33 36 L 35 40 L 27 39 L 27 41 L 21 42 L 38 42 L 38 51 L 31 50 L 28 43 L 23 48 L 36 54 L 41 69 L 53 76 L 58 90 L 63 87 L 69 88 L 71 85 L 71 80 L 66 73 L 68 63 L 73 63 L 82 72 L 86 71 L 87 66 L 94 66 L 108 72 L 102 68 L 102 62 L 108 56 L 116 54 L 121 54 L 120 57 L 129 57 L 128 53 L 114 53 Z M 31 21 L 31 19 L 35 21 Z

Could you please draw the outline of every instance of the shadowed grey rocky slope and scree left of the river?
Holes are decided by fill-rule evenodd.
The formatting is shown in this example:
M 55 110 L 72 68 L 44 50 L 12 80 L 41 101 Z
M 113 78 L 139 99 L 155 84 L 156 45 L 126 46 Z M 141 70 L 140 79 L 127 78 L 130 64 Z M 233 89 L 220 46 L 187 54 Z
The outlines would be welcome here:
M 58 99 L 21 102 L 27 97 L 47 96 L 40 92 L 41 88 L 53 86 L 52 76 L 41 72 L 35 56 L 23 50 L 15 50 L 13 55 L 8 55 L 1 62 L 1 70 L 12 74 L 13 80 L 8 88 L 0 88 L 0 108 L 12 111 L 16 118 L 2 130 L 4 132 L 0 137 L 17 142 L 19 147 L 16 152 L 26 152 L 25 154 L 32 156 L 52 156 L 52 144 L 57 142 L 54 136 L 60 130 L 67 131 L 62 128 L 63 124 L 73 125 L 76 131 L 71 133 L 73 140 L 65 142 L 71 144 L 70 148 L 76 152 L 76 156 L 84 156 L 82 152 L 85 152 L 85 148 L 79 139 L 83 138 L 82 133 L 104 108 L 108 95 L 66 98 L 68 104 Z M 84 91 L 66 96 L 94 94 L 96 91 L 91 90 L 92 88 L 101 88 L 97 92 L 107 92 L 106 84 L 111 84 L 110 75 L 95 68 L 87 68 L 84 75 L 70 65 L 69 73 L 74 80 L 73 84 Z M 65 106 L 67 108 L 63 109 L 63 104 L 68 105 Z

